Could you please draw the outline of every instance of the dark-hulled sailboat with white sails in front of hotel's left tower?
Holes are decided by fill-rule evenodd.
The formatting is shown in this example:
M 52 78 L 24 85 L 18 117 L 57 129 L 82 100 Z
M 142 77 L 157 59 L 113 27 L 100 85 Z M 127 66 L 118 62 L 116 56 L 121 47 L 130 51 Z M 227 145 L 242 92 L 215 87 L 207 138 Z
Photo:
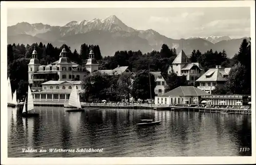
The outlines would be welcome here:
M 36 113 L 28 113 L 29 111 L 32 111 L 32 110 L 34 110 L 33 96 L 32 96 L 30 87 L 28 87 L 28 105 L 27 105 L 27 110 L 26 110 L 26 100 L 25 100 L 22 116 L 23 117 L 39 116 L 39 114 L 36 114 Z

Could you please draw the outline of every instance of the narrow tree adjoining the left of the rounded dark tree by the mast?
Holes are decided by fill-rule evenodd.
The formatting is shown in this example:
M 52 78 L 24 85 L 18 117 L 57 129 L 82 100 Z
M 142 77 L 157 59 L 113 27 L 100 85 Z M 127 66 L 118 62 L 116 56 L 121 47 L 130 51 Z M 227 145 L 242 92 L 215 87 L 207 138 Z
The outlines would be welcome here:
M 128 99 L 128 102 L 130 101 L 129 98 L 132 94 L 132 78 L 133 75 L 131 73 L 123 73 L 117 81 L 120 95 L 124 96 L 125 99 Z

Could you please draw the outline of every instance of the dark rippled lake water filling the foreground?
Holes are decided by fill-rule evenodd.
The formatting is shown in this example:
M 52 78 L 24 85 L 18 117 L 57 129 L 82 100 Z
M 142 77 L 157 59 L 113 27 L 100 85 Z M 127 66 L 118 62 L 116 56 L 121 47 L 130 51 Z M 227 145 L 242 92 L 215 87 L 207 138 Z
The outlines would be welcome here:
M 8 157 L 250 156 L 251 116 L 199 112 L 98 109 L 67 113 L 35 107 L 23 118 L 8 107 Z M 139 127 L 140 119 L 162 120 Z M 23 153 L 22 149 L 101 149 L 94 153 Z

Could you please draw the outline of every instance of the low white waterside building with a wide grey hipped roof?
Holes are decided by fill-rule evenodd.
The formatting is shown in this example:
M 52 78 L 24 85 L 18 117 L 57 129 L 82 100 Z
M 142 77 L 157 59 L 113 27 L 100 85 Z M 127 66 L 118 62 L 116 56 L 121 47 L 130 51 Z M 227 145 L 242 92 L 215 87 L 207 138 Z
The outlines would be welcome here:
M 194 86 L 180 86 L 155 97 L 155 104 L 198 104 L 201 96 L 210 95 Z

